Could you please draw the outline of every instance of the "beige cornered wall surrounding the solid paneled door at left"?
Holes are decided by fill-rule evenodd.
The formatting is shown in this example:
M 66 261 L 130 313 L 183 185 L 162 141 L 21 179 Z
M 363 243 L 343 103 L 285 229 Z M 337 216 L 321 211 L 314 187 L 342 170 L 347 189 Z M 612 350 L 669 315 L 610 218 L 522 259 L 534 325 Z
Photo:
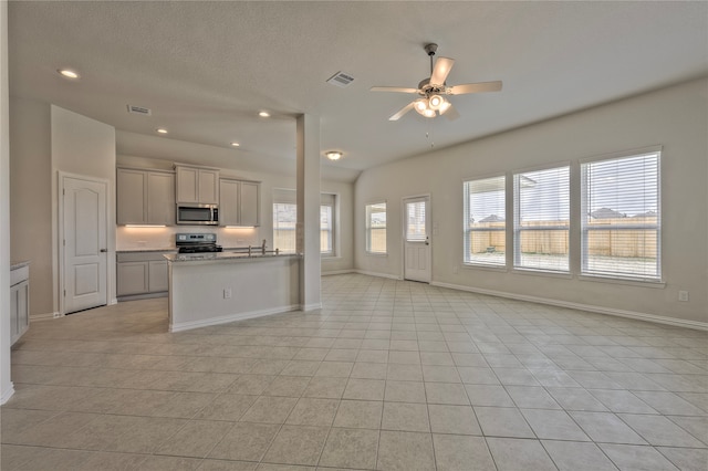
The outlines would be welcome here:
M 31 260 L 30 316 L 59 313 L 59 174 L 108 181 L 108 300 L 115 299 L 115 132 L 46 103 L 10 102 L 11 259 Z

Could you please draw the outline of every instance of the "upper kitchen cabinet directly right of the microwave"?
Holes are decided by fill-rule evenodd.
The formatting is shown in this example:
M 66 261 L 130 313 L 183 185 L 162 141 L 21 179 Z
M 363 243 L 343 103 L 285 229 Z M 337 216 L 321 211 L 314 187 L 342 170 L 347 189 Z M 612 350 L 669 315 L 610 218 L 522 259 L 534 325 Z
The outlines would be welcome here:
M 260 226 L 259 181 L 221 179 L 219 182 L 219 224 Z

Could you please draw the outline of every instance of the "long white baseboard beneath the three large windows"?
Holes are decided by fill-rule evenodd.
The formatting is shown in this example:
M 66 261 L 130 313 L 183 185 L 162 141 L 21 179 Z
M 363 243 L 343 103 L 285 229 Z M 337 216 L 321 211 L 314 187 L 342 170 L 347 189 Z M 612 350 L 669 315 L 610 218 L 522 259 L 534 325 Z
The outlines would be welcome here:
M 507 297 L 510 300 L 528 301 L 531 303 L 548 304 L 551 306 L 569 307 L 579 311 L 590 311 L 597 314 L 607 314 L 618 317 L 628 317 L 638 321 L 654 322 L 657 324 L 667 324 L 676 327 L 694 328 L 698 331 L 708 331 L 708 323 L 698 321 L 687 321 L 683 318 L 666 317 L 655 314 L 638 313 L 635 311 L 616 310 L 613 307 L 596 306 L 593 304 L 572 303 L 569 301 L 551 300 L 548 297 L 528 296 L 524 294 L 508 293 L 506 291 L 485 290 L 479 287 L 464 286 L 451 283 L 431 282 L 431 286 L 449 287 L 451 290 L 467 291 L 470 293 L 488 294 L 490 296 Z

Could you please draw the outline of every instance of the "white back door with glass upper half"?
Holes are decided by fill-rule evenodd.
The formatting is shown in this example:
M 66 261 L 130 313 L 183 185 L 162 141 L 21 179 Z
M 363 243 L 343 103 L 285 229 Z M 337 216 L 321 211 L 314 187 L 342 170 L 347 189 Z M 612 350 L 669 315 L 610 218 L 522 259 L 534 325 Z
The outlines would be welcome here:
M 404 200 L 404 278 L 429 283 L 430 266 L 430 198 Z

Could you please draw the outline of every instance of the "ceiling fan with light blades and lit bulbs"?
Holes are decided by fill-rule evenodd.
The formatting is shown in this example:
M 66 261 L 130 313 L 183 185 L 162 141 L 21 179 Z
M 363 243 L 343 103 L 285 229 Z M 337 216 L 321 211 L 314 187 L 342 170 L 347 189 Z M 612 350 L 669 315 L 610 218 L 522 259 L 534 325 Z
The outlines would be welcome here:
M 464 85 L 448 86 L 445 83 L 447 75 L 450 73 L 455 60 L 449 57 L 438 57 L 433 66 L 433 56 L 438 50 L 437 44 L 426 44 L 425 52 L 430 57 L 430 77 L 424 78 L 417 88 L 404 88 L 399 86 L 372 86 L 372 92 L 397 92 L 397 93 L 415 93 L 420 95 L 404 106 L 398 113 L 394 114 L 388 121 L 398 121 L 410 109 L 415 109 L 425 117 L 436 117 L 445 115 L 448 119 L 457 119 L 460 115 L 445 95 L 462 95 L 466 93 L 481 92 L 499 92 L 501 82 L 479 82 L 467 83 Z

